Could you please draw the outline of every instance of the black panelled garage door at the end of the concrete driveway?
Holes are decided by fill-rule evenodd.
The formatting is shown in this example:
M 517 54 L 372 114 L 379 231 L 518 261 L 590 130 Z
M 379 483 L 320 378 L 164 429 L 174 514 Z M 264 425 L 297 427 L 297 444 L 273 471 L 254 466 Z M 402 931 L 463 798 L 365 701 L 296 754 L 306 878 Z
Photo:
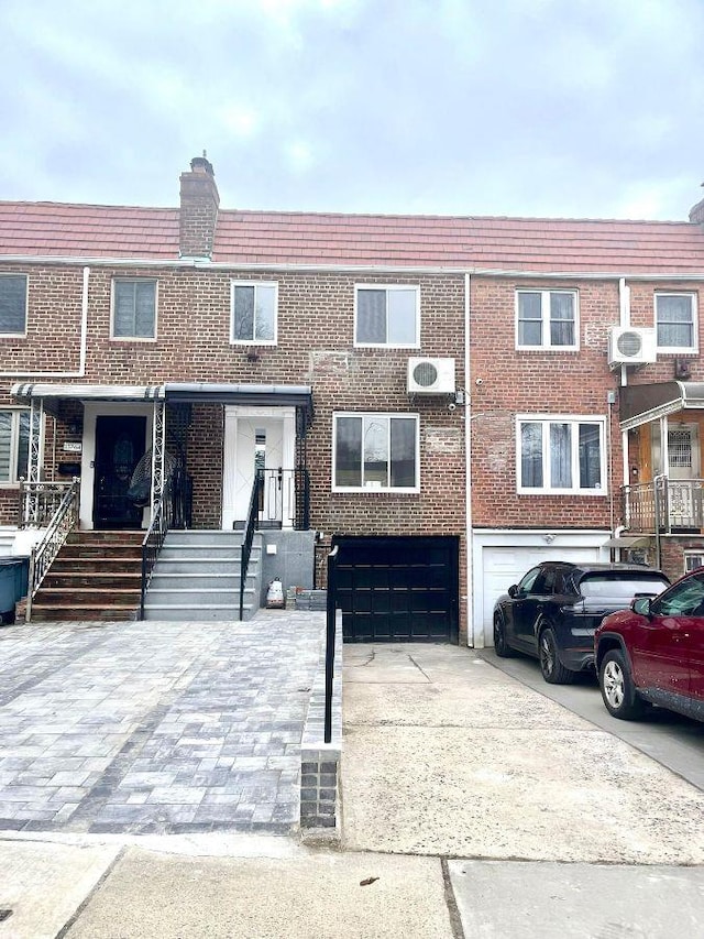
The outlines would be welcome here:
M 338 537 L 345 642 L 457 642 L 459 538 Z

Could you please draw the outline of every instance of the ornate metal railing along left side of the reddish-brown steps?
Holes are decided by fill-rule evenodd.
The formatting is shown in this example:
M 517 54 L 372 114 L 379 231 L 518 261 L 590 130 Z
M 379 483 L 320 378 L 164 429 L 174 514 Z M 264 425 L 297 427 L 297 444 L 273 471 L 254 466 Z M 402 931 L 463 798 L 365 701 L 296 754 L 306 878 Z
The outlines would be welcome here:
M 74 479 L 73 482 L 68 483 L 23 483 L 22 487 L 30 489 L 29 495 L 37 500 L 35 507 L 38 506 L 38 509 L 34 515 L 36 520 L 44 517 L 44 514 L 48 512 L 50 505 L 56 506 L 43 538 L 32 547 L 30 554 L 26 611 L 24 616 L 25 622 L 29 623 L 32 621 L 34 597 L 42 586 L 46 572 L 56 559 L 56 555 L 62 549 L 68 535 L 78 526 L 80 480 Z M 40 487 L 48 488 L 38 489 Z M 61 489 L 53 487 L 61 487 Z M 57 502 L 59 493 L 61 501 Z M 41 523 L 36 521 L 35 524 Z

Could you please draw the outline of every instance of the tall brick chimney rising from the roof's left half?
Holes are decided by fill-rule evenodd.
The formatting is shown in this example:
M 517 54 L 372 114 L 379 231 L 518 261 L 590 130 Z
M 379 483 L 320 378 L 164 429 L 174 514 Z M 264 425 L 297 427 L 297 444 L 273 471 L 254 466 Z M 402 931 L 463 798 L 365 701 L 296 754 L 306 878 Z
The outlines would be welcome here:
M 210 258 L 216 239 L 220 196 L 212 164 L 202 156 L 190 161 L 180 175 L 179 253 L 182 258 Z

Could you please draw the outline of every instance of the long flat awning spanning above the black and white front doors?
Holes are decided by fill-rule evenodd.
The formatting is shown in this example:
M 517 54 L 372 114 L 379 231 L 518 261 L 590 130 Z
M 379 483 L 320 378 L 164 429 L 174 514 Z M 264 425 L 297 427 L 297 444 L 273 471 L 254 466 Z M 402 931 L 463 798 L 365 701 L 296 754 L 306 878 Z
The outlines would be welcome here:
M 189 404 L 241 404 L 296 407 L 305 426 L 312 422 L 312 391 L 308 385 L 219 384 L 213 382 L 165 382 L 161 385 L 99 385 L 18 383 L 12 396 L 25 404 L 44 401 L 166 401 Z

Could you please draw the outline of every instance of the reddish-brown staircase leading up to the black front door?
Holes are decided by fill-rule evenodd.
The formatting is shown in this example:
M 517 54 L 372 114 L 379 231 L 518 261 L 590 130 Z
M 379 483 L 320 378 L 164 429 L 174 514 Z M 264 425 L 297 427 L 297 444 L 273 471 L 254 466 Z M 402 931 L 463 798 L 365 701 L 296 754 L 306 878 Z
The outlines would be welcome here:
M 72 532 L 34 598 L 32 622 L 136 619 L 143 537 Z

